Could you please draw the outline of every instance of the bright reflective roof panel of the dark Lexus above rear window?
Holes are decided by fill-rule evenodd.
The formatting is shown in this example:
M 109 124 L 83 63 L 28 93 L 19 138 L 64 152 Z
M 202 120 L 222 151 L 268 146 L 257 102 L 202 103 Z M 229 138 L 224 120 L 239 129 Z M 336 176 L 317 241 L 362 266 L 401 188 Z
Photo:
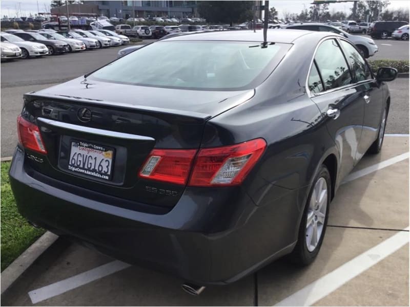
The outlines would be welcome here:
M 267 41 L 292 43 L 304 35 L 315 35 L 318 37 L 329 36 L 330 32 L 314 32 L 306 30 L 290 29 L 268 29 Z M 313 37 L 312 37 L 313 38 Z M 319 38 L 319 39 L 320 39 Z M 237 31 L 204 31 L 193 34 L 178 35 L 167 38 L 166 40 L 235 40 L 235 41 L 263 41 L 263 31 L 256 30 L 237 30 Z

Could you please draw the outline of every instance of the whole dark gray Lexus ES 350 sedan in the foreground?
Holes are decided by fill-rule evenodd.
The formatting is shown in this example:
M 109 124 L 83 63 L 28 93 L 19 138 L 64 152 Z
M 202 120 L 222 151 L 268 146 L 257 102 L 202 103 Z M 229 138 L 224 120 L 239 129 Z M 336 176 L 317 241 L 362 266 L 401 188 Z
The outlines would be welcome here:
M 285 254 L 310 264 L 342 179 L 381 150 L 396 75 L 330 32 L 159 40 L 24 95 L 18 209 L 193 293 Z

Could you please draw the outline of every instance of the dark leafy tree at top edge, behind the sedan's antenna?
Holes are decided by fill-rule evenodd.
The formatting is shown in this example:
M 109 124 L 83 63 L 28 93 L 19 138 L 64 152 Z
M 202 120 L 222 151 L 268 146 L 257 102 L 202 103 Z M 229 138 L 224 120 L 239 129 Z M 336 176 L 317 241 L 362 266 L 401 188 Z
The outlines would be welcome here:
M 200 1 L 198 13 L 211 23 L 237 23 L 253 19 L 254 1 Z

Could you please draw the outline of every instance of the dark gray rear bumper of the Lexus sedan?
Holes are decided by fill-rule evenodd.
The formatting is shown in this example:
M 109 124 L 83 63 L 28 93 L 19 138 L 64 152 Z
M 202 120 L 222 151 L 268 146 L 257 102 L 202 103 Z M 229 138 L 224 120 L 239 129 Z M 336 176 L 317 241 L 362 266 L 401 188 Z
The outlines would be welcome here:
M 294 247 L 294 233 L 283 227 L 286 218 L 276 204 L 292 211 L 296 190 L 258 207 L 240 188 L 187 188 L 170 211 L 144 213 L 85 198 L 80 187 L 38 180 L 19 148 L 10 183 L 19 212 L 30 222 L 197 284 L 236 281 Z

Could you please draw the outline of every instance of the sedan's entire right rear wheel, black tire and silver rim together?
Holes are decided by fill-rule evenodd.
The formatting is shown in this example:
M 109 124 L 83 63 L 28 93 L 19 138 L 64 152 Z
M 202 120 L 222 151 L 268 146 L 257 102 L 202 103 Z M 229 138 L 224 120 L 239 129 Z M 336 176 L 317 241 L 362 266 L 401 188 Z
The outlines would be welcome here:
M 331 194 L 330 173 L 322 164 L 309 191 L 308 201 L 300 222 L 298 241 L 290 254 L 290 259 L 294 264 L 310 265 L 319 253 L 329 217 Z

